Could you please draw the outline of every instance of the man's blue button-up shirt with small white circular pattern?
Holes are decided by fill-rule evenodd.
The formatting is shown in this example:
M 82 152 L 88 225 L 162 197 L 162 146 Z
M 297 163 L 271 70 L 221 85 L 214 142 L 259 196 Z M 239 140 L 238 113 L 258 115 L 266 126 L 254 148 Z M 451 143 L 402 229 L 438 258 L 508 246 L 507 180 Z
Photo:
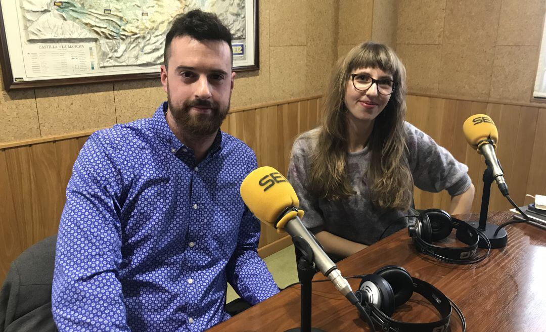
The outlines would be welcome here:
M 219 132 L 197 164 L 166 111 L 98 131 L 80 151 L 57 240 L 60 331 L 203 331 L 229 318 L 227 282 L 251 304 L 278 292 L 239 194 L 254 152 Z

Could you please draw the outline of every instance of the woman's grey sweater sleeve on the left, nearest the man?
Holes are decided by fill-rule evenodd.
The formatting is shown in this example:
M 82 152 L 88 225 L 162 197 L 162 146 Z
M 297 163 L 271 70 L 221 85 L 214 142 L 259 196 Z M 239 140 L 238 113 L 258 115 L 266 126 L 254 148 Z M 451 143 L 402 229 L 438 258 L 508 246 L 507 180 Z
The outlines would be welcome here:
M 302 223 L 312 233 L 317 233 L 324 228 L 324 218 L 318 207 L 318 198 L 308 191 L 307 172 L 310 168 L 311 149 L 310 138 L 300 137 L 294 141 L 288 164 L 287 180 L 298 195 L 300 209 L 305 211 Z

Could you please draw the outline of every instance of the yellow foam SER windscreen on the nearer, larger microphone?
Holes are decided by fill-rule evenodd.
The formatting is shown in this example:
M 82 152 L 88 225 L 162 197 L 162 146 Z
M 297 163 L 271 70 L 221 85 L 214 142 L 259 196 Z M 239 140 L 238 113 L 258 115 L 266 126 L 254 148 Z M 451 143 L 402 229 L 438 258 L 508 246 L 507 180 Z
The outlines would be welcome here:
M 241 183 L 241 197 L 260 221 L 275 227 L 277 218 L 300 201 L 290 183 L 276 169 L 264 166 L 253 170 Z

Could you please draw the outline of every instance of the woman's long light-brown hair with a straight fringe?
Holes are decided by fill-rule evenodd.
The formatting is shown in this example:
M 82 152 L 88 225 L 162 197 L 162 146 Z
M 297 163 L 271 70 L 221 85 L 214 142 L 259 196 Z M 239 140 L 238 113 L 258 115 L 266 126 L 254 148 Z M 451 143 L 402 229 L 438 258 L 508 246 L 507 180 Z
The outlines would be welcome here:
M 337 61 L 324 103 L 318 141 L 312 151 L 310 191 L 316 197 L 339 200 L 354 194 L 347 177 L 347 108 L 345 91 L 353 70 L 379 68 L 393 76 L 396 87 L 376 117 L 367 146 L 370 167 L 363 174 L 370 200 L 380 210 L 407 210 L 412 202 L 413 178 L 405 156 L 406 69 L 388 46 L 360 44 Z

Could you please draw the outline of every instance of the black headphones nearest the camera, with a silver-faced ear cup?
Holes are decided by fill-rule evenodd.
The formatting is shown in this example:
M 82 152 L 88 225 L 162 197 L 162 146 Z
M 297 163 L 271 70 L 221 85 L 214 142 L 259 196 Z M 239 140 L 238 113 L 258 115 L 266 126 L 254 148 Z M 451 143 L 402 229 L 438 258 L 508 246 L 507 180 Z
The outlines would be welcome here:
M 362 281 L 355 295 L 370 315 L 378 331 L 389 332 L 446 332 L 452 307 L 461 319 L 462 331 L 466 321 L 462 312 L 450 299 L 430 283 L 413 278 L 401 266 L 387 265 L 373 274 L 360 276 Z M 406 323 L 390 318 L 394 309 L 409 300 L 413 292 L 423 295 L 442 317 L 431 323 Z

